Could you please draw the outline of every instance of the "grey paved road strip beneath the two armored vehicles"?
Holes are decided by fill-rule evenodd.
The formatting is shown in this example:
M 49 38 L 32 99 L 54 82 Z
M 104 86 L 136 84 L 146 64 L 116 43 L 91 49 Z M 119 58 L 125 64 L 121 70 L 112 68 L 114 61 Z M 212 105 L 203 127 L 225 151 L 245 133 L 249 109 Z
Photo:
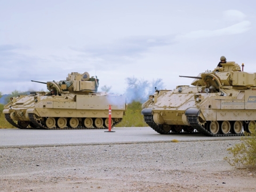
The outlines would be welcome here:
M 150 127 L 115 127 L 108 130 L 0 129 L 0 147 L 86 145 L 93 143 L 230 140 L 241 137 L 207 137 L 203 134 L 162 135 Z

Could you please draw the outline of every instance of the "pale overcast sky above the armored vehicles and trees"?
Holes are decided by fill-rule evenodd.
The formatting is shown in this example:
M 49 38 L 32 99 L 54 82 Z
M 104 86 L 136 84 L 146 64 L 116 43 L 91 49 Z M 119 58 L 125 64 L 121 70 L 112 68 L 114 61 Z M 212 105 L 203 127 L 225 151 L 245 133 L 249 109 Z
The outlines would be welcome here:
M 97 75 L 124 93 L 126 77 L 190 85 L 221 55 L 256 72 L 255 1 L 0 0 L 0 91 Z

